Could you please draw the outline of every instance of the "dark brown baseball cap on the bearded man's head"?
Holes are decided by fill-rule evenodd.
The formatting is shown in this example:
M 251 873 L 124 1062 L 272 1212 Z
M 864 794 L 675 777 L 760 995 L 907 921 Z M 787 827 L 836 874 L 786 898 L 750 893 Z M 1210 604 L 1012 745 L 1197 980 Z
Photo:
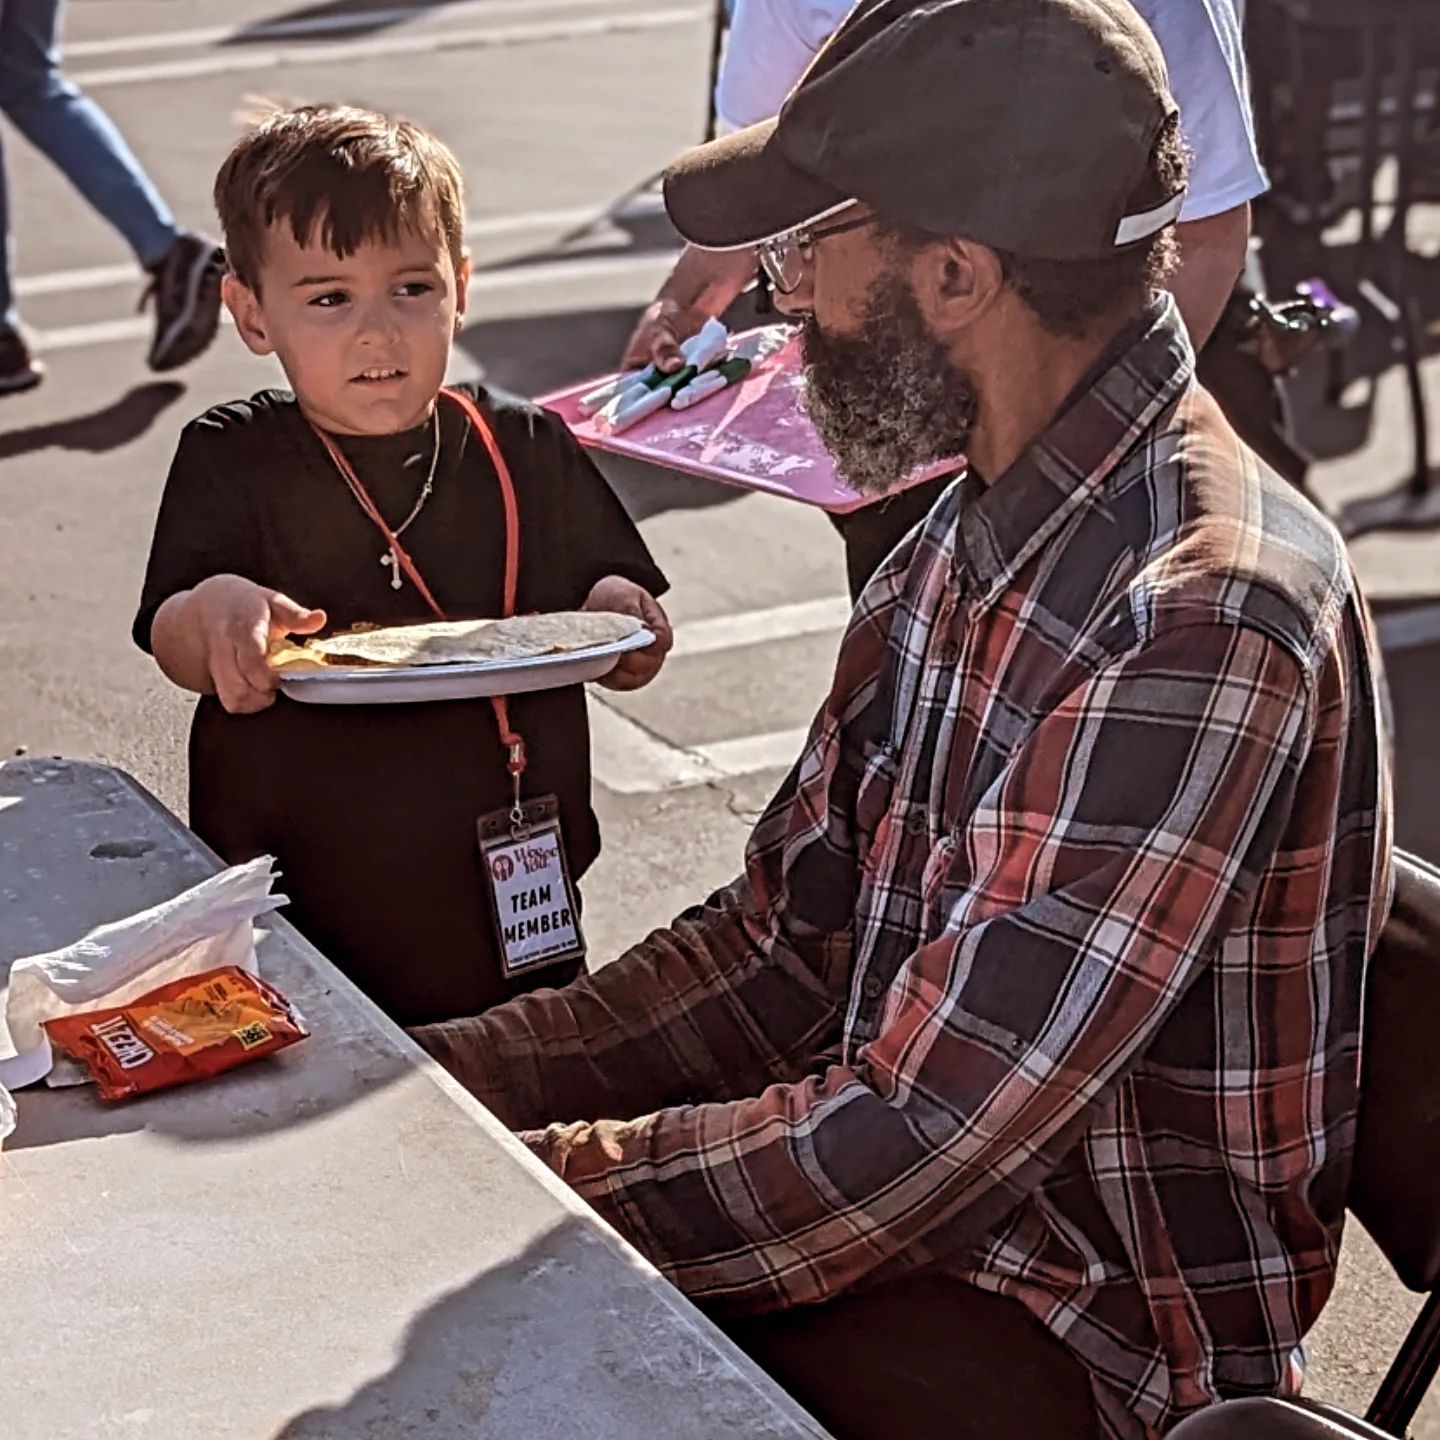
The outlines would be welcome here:
M 706 249 L 863 200 L 887 220 L 1037 259 L 1169 225 L 1151 156 L 1176 114 L 1128 0 L 860 0 L 775 120 L 681 156 L 665 207 Z

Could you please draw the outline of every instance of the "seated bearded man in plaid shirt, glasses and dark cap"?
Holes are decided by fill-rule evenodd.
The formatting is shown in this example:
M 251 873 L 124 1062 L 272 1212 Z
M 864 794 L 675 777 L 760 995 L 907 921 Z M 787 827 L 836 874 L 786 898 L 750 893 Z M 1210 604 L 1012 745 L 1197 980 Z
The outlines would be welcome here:
M 968 468 L 863 595 L 742 877 L 422 1041 L 828 1430 L 1143 1437 L 1284 1394 L 1390 896 L 1332 527 L 1195 384 L 1125 0 L 861 0 L 681 157 L 851 484 Z

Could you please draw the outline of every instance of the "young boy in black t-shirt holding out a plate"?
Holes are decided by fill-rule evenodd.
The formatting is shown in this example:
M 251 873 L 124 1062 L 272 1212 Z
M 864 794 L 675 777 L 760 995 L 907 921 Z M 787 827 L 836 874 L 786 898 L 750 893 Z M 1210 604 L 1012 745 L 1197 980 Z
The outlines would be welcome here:
M 438 140 L 370 111 L 282 112 L 236 144 L 215 197 L 225 302 L 294 393 L 190 423 L 160 505 L 134 636 L 202 697 L 190 824 L 228 861 L 275 854 L 289 917 L 402 1024 L 564 984 L 580 960 L 507 965 L 495 930 L 477 821 L 513 782 L 492 704 L 298 704 L 276 697 L 266 648 L 433 619 L 423 590 L 448 618 L 500 615 L 505 478 L 516 612 L 621 611 L 654 631 L 615 688 L 648 683 L 670 648 L 665 579 L 559 419 L 480 386 L 442 392 L 469 262 Z M 556 798 L 579 878 L 599 850 L 583 690 L 516 696 L 508 724 L 524 798 Z

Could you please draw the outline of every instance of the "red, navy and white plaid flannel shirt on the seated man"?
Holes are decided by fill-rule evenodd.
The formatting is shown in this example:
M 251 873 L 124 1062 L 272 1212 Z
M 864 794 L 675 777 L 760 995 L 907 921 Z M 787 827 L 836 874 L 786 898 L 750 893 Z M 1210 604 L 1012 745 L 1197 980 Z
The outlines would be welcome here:
M 870 586 L 732 887 L 420 1037 L 691 1296 L 943 1267 L 1115 1436 L 1283 1392 L 1388 907 L 1380 685 L 1339 537 L 1165 301 Z

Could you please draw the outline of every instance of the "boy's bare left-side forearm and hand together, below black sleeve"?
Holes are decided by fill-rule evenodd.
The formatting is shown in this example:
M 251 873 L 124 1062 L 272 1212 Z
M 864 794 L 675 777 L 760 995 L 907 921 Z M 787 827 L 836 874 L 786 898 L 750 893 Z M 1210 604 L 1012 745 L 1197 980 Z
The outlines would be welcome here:
M 266 660 L 272 636 L 312 635 L 324 624 L 324 611 L 238 575 L 213 575 L 156 611 L 150 647 L 177 685 L 216 696 L 230 714 L 252 714 L 274 703 L 279 684 Z

